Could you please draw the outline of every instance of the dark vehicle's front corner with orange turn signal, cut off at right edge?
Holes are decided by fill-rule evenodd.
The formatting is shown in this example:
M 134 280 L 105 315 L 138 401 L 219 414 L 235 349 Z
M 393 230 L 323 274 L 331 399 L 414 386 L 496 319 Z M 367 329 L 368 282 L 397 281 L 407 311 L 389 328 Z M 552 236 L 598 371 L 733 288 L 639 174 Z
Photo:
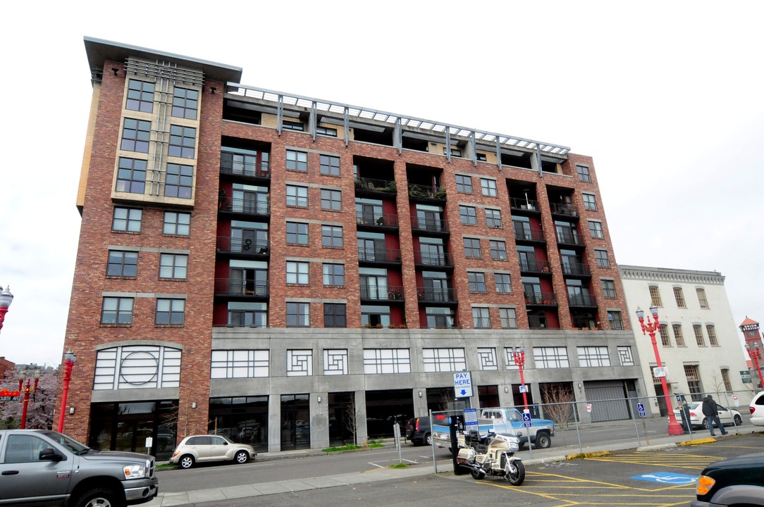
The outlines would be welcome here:
M 714 461 L 698 476 L 690 507 L 764 507 L 764 453 Z

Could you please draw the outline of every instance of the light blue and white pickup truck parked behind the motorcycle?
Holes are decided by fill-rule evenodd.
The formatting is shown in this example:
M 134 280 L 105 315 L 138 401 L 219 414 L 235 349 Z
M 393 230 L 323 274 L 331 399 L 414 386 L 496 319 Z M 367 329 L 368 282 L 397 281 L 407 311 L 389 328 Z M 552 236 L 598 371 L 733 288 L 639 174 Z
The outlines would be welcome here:
M 445 419 L 447 421 L 447 419 Z M 432 425 L 432 441 L 438 447 L 451 447 L 451 436 L 448 424 L 437 424 L 438 418 Z M 552 437 L 555 436 L 555 423 L 549 419 L 531 418 L 531 425 L 526 428 L 523 424 L 523 414 L 517 409 L 482 409 L 478 418 L 478 432 L 487 434 L 494 431 L 497 434 L 514 435 L 520 438 L 520 446 L 530 441 L 536 449 L 552 447 Z M 474 429 L 474 428 L 472 428 Z M 464 435 L 460 435 L 460 445 Z

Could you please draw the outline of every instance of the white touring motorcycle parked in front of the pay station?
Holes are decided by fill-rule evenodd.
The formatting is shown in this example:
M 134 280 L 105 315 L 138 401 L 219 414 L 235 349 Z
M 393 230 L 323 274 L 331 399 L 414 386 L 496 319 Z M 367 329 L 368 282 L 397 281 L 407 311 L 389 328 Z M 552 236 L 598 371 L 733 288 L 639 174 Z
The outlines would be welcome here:
M 520 448 L 520 439 L 513 436 L 488 431 L 481 437 L 478 431 L 465 432 L 465 447 L 459 449 L 456 463 L 470 469 L 474 480 L 485 476 L 500 476 L 513 486 L 520 486 L 525 480 L 525 465 L 515 451 Z

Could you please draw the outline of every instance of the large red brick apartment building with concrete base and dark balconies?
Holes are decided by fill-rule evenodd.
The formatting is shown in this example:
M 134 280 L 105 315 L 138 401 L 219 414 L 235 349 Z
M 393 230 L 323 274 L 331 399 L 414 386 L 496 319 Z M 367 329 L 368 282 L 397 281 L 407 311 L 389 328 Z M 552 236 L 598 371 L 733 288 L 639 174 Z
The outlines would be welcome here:
M 67 433 L 361 441 L 465 370 L 471 406 L 522 405 L 513 347 L 530 402 L 645 394 L 591 157 L 85 47 Z

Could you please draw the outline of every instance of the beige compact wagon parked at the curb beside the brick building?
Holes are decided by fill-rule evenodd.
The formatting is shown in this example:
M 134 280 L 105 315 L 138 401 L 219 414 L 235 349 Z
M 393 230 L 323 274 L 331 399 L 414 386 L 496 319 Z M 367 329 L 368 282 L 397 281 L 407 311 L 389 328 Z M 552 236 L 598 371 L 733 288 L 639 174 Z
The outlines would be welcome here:
M 235 461 L 247 463 L 257 455 L 254 448 L 247 444 L 235 444 L 214 434 L 194 434 L 183 438 L 175 447 L 170 463 L 181 468 L 191 468 L 194 463 L 206 461 Z

